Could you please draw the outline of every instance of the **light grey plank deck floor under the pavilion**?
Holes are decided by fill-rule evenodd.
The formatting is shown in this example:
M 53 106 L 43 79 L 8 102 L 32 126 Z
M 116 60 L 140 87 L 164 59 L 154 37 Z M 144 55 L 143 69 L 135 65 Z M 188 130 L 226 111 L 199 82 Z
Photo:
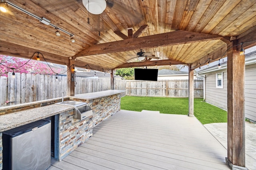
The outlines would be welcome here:
M 229 170 L 226 156 L 195 117 L 121 110 L 48 170 Z

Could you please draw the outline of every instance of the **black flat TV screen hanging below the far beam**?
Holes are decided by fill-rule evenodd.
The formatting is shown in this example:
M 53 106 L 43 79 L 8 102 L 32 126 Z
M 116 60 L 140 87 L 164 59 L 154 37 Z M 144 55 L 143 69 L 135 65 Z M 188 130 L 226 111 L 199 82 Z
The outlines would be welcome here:
M 157 81 L 158 69 L 134 68 L 135 80 Z

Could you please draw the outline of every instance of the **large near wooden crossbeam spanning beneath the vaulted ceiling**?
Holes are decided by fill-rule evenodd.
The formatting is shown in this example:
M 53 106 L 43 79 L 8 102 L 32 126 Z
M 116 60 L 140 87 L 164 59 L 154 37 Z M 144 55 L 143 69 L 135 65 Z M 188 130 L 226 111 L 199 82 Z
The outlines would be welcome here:
M 205 33 L 179 30 L 168 33 L 149 35 L 146 37 L 138 37 L 109 43 L 95 44 L 88 47 L 84 51 L 81 51 L 80 53 L 75 55 L 74 58 L 88 55 L 100 55 L 106 53 L 131 51 L 142 48 L 154 48 L 168 45 L 194 43 L 198 41 L 210 41 L 222 38 L 223 37 L 220 35 L 210 35 Z

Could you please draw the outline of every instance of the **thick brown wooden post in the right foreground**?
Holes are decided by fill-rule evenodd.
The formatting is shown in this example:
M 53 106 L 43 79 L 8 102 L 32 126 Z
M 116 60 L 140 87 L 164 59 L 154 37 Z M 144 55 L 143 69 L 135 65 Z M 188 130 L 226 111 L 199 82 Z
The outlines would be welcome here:
M 228 158 L 226 162 L 234 167 L 245 167 L 245 115 L 244 115 L 244 56 L 239 55 L 236 40 L 228 47 L 227 100 L 228 100 Z M 233 46 L 233 48 L 232 48 Z

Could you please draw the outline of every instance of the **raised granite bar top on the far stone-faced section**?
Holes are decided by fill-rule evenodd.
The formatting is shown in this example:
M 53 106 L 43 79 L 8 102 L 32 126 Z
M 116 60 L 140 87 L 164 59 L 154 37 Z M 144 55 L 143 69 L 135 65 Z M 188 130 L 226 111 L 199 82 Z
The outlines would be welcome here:
M 111 96 L 111 95 L 119 94 L 123 92 L 126 92 L 126 91 L 125 90 L 106 90 L 102 92 L 76 94 L 75 96 L 71 96 L 70 99 L 73 98 L 73 99 L 80 99 L 80 100 L 82 99 L 91 100 L 91 99 L 102 98 L 102 97 Z

